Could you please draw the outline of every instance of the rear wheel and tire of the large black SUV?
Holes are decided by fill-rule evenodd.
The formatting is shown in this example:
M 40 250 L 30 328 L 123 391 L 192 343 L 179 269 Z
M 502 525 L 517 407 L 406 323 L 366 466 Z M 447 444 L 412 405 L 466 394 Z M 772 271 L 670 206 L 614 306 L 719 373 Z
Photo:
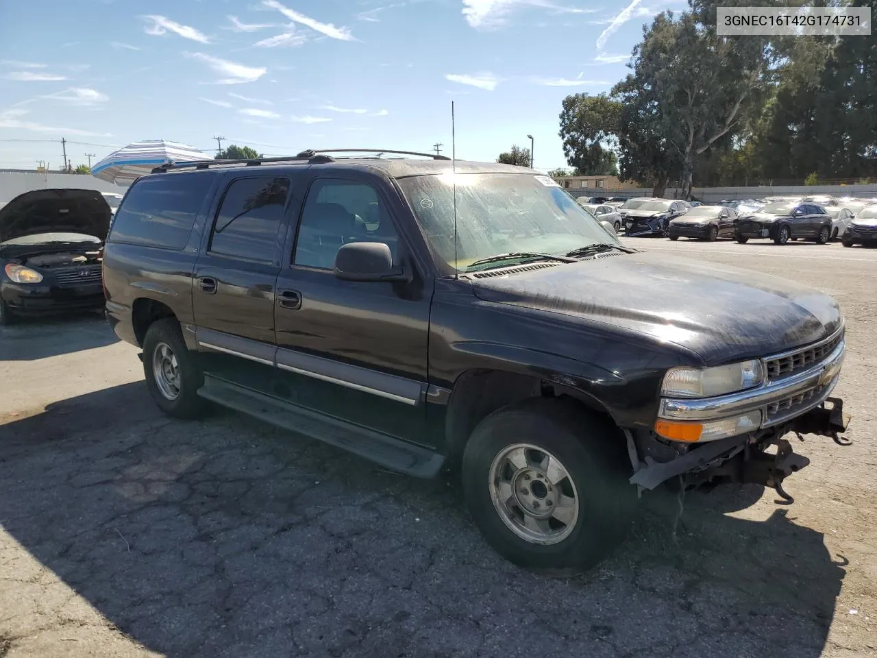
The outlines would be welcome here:
M 162 366 L 169 366 L 176 376 L 171 378 Z M 197 418 L 203 411 L 203 400 L 196 393 L 203 383 L 203 374 L 182 340 L 180 324 L 174 318 L 156 320 L 146 330 L 143 374 L 155 404 L 168 416 Z M 173 390 L 168 390 L 168 384 L 173 387 L 174 383 L 176 395 L 172 396 Z

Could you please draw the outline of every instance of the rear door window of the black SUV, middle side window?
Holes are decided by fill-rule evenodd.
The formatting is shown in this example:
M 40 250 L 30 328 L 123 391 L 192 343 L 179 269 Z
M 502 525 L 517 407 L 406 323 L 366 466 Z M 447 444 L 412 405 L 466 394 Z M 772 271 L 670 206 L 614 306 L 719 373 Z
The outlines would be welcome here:
M 210 252 L 253 261 L 274 261 L 283 223 L 288 178 L 240 178 L 229 185 L 219 207 Z

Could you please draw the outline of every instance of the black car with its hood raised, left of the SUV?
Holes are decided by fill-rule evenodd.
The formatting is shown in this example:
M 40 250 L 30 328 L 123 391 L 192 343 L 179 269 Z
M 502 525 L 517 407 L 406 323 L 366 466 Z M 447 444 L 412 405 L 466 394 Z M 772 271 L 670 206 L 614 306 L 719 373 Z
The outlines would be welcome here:
M 0 325 L 103 307 L 110 206 L 95 190 L 34 190 L 0 209 Z

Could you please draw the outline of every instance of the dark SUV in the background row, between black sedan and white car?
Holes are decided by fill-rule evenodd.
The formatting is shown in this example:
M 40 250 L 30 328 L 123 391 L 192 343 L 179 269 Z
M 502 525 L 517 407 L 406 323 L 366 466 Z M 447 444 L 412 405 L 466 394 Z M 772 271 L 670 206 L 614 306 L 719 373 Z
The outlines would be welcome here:
M 831 238 L 831 218 L 816 204 L 777 201 L 758 212 L 739 217 L 734 238 L 744 244 L 751 238 L 770 238 L 778 245 L 802 238 L 824 245 Z

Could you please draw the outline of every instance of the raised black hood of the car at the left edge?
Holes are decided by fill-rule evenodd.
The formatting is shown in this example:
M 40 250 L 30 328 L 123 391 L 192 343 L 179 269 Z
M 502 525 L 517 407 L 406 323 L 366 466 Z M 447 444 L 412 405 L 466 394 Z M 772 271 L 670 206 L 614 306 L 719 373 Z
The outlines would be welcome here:
M 50 232 L 105 240 L 110 218 L 110 206 L 96 190 L 33 190 L 0 208 L 0 242 Z

